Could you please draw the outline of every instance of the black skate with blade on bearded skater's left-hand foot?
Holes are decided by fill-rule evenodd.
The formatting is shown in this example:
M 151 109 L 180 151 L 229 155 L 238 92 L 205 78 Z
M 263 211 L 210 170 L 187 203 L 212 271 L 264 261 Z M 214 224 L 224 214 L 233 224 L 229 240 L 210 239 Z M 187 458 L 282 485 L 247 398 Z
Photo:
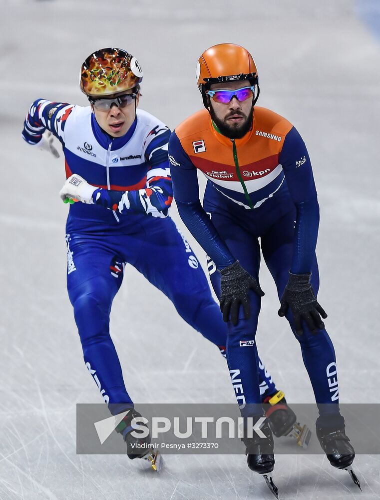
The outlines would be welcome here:
M 260 416 L 253 417 L 253 427 L 260 418 Z M 247 437 L 246 430 L 247 422 L 245 421 L 243 442 L 246 445 L 248 467 L 264 477 L 269 489 L 278 498 L 278 488 L 273 482 L 271 473 L 275 466 L 275 455 L 273 454 L 273 435 L 268 420 L 265 420 L 258 429 L 259 433 L 261 431 L 265 437 L 260 436 L 257 430 L 253 431 L 252 437 Z

